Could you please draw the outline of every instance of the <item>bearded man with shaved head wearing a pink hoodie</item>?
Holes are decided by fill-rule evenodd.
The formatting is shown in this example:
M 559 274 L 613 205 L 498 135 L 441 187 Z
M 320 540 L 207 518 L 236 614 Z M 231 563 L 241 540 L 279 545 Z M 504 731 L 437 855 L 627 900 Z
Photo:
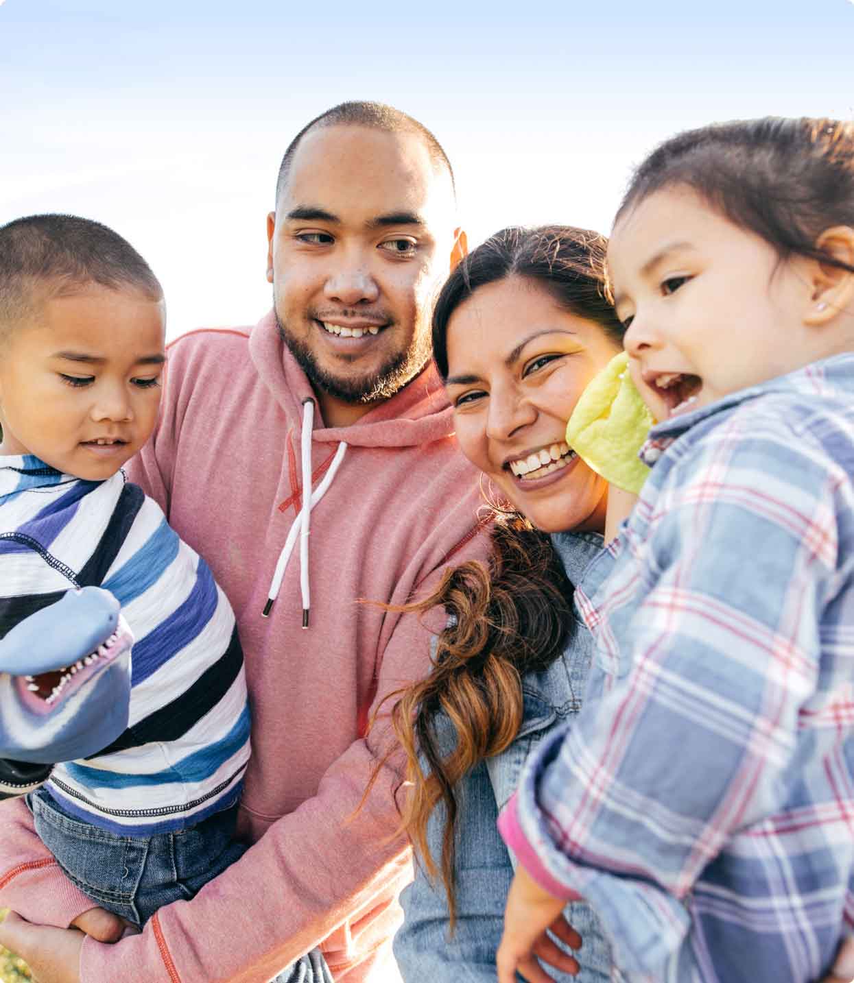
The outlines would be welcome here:
M 24 801 L 4 803 L 0 905 L 38 924 L 13 916 L 0 938 L 39 983 L 263 983 L 316 946 L 336 980 L 399 979 L 390 942 L 410 861 L 395 759 L 358 808 L 390 704 L 367 724 L 427 671 L 443 616 L 369 602 L 401 605 L 487 550 L 477 478 L 428 364 L 431 300 L 464 252 L 455 224 L 431 134 L 386 106 L 336 106 L 282 160 L 274 311 L 172 345 L 159 426 L 130 477 L 237 615 L 253 713 L 241 835 L 254 845 L 107 944 L 112 916 L 64 879 Z

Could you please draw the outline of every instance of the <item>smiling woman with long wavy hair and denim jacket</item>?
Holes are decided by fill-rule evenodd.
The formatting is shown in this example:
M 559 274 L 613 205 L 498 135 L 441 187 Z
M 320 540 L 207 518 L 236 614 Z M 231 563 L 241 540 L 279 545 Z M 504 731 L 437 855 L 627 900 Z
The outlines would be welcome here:
M 433 672 L 394 713 L 411 782 L 403 822 L 419 860 L 395 944 L 406 983 L 495 980 L 513 875 L 498 812 L 528 752 L 580 708 L 592 648 L 573 583 L 602 548 L 608 487 L 564 431 L 621 347 L 603 289 L 605 245 L 582 229 L 505 229 L 460 263 L 437 303 L 434 357 L 459 446 L 499 507 L 489 569 L 449 571 L 417 606 L 445 607 L 451 624 Z M 574 956 L 544 947 L 550 972 L 609 979 L 592 912 L 573 904 L 567 914 L 583 942 Z M 578 947 L 565 922 L 555 931 Z

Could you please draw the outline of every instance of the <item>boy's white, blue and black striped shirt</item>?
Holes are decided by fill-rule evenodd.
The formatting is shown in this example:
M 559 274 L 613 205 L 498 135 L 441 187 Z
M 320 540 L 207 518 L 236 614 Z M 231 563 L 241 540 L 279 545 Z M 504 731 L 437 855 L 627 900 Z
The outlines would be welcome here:
M 122 472 L 89 482 L 32 456 L 0 457 L 0 571 L 4 633 L 90 585 L 115 596 L 134 633 L 127 730 L 53 769 L 47 788 L 64 809 L 145 837 L 237 800 L 249 708 L 234 614 L 151 498 Z

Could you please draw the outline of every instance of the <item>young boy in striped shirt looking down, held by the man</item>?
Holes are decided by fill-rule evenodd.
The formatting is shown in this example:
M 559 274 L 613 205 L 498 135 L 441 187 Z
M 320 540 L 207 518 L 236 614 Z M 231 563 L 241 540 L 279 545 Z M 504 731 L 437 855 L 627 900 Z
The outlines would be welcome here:
M 96 586 L 135 638 L 127 729 L 85 762 L 6 774 L 50 772 L 28 799 L 38 835 L 80 890 L 138 925 L 242 853 L 249 758 L 231 608 L 121 471 L 152 433 L 164 363 L 160 285 L 120 236 L 69 215 L 0 228 L 0 625 Z M 30 679 L 45 714 L 72 668 Z

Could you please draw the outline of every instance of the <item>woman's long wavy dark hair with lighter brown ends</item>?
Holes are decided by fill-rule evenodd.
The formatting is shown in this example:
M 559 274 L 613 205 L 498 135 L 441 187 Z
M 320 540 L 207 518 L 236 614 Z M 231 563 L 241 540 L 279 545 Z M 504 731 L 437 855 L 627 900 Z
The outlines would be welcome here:
M 562 309 L 599 324 L 619 344 L 623 327 L 604 289 L 606 245 L 596 232 L 550 225 L 503 229 L 474 250 L 446 282 L 433 316 L 433 353 L 443 379 L 454 312 L 480 287 L 508 277 L 542 287 Z M 449 626 L 438 638 L 430 675 L 394 694 L 399 699 L 392 712 L 406 754 L 401 824 L 428 875 L 441 875 L 452 929 L 455 786 L 479 762 L 513 742 L 522 722 L 521 677 L 547 668 L 561 655 L 572 625 L 574 588 L 547 535 L 519 513 L 497 506 L 492 546 L 488 566 L 470 561 L 449 569 L 430 597 L 406 607 L 426 612 L 442 605 Z M 440 714 L 457 736 L 456 747 L 444 756 Z M 440 805 L 446 823 L 437 864 L 427 845 L 427 823 Z

